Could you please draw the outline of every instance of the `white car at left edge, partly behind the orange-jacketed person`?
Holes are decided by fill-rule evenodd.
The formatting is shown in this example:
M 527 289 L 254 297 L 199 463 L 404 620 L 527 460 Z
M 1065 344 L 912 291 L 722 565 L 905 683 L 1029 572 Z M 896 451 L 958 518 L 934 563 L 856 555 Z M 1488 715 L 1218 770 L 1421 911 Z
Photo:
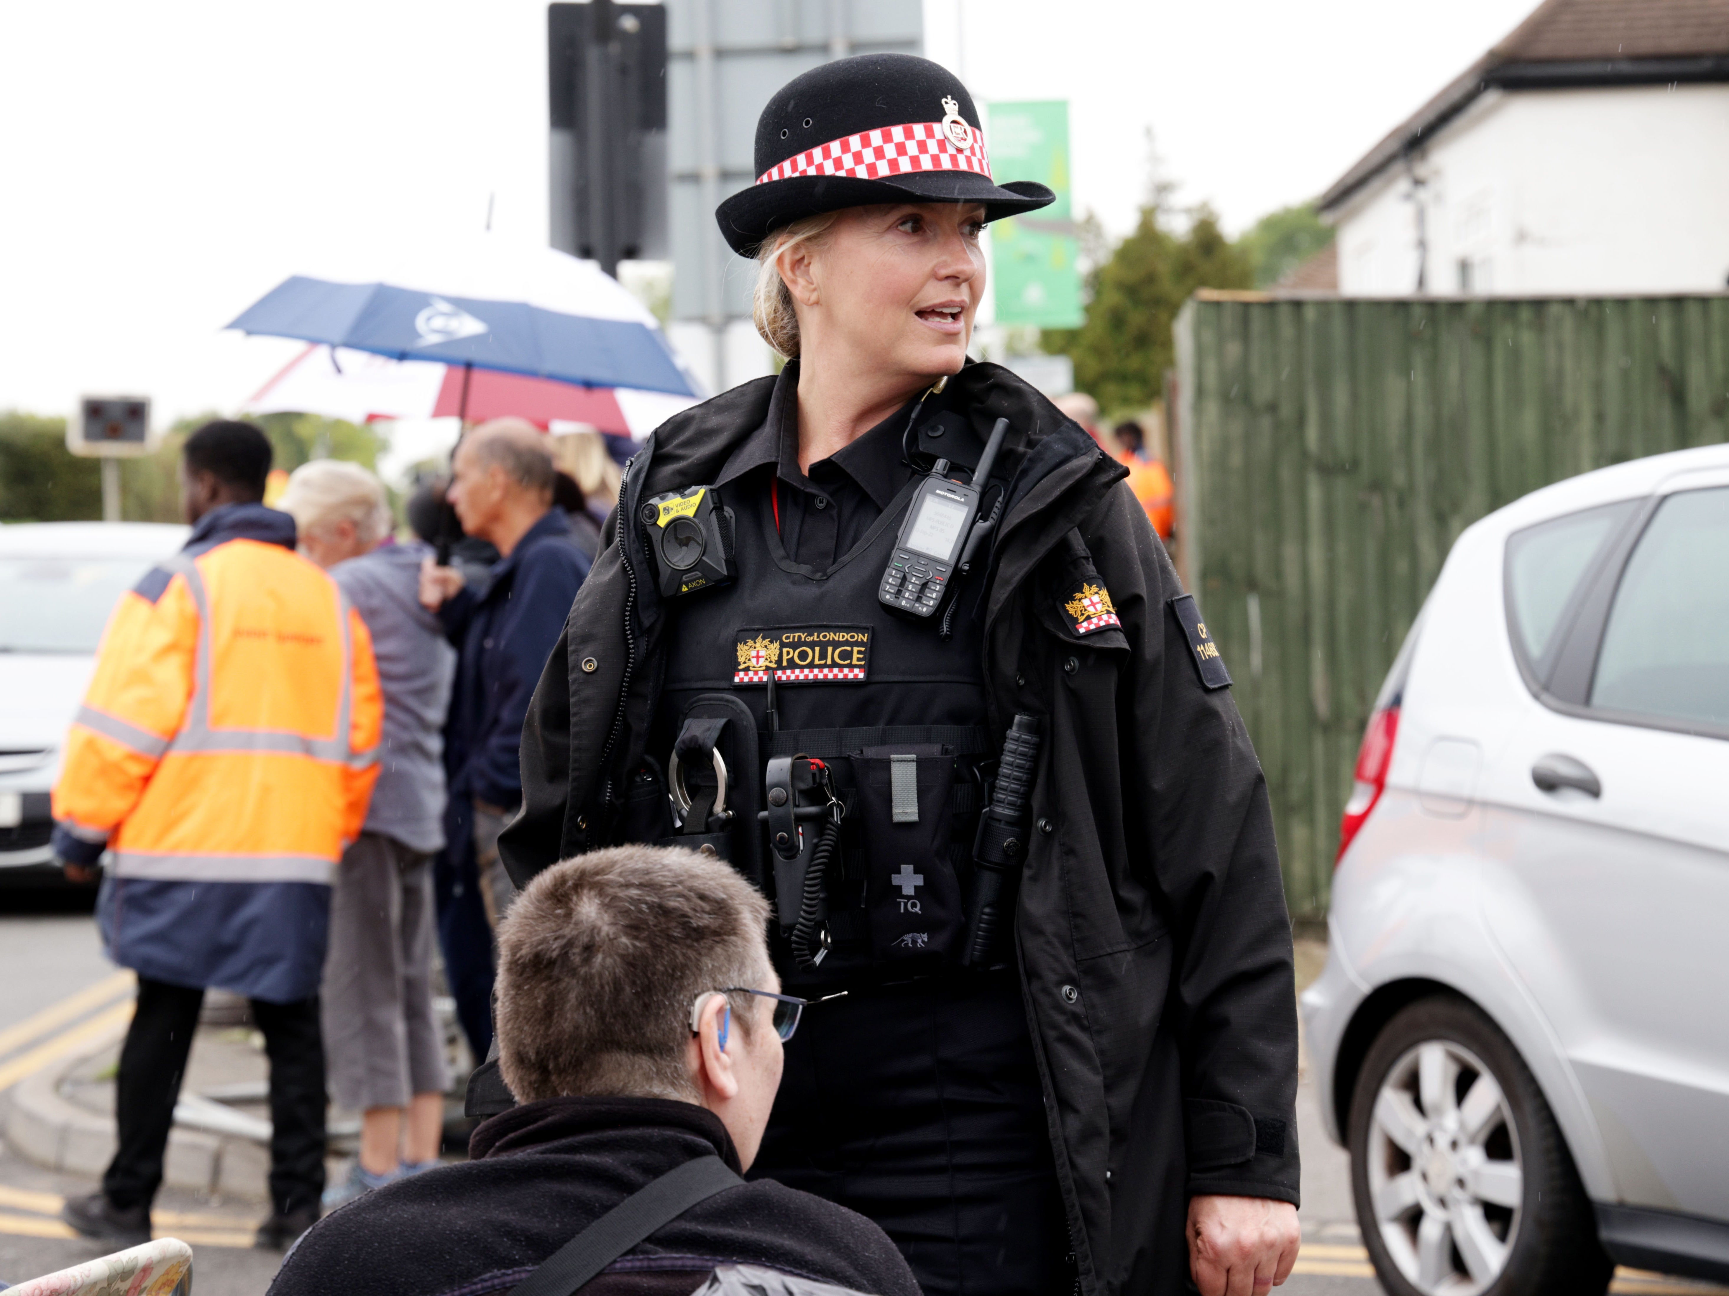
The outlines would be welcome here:
M 176 553 L 187 527 L 0 527 L 0 886 L 55 883 L 48 793 L 114 601 Z

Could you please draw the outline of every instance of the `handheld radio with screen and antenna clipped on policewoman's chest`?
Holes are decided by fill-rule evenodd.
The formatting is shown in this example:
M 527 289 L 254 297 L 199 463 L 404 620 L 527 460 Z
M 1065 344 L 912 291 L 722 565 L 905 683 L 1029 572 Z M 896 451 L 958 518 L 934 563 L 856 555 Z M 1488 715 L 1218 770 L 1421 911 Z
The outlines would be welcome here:
M 942 607 L 956 570 L 967 570 L 979 544 L 996 525 L 996 513 L 979 518 L 979 501 L 1006 432 L 1008 420 L 998 418 L 970 486 L 949 477 L 947 460 L 937 460 L 918 484 L 901 522 L 901 534 L 894 539 L 894 556 L 877 588 L 878 603 L 915 617 L 935 615 Z

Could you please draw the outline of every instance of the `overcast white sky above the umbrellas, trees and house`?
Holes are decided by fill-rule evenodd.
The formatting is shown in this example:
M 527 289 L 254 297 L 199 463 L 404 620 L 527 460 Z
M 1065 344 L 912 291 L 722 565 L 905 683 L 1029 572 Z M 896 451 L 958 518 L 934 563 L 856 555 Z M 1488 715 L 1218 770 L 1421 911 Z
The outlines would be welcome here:
M 925 0 L 925 43 L 980 100 L 1070 100 L 1077 213 L 1132 226 L 1152 126 L 1238 232 L 1530 5 Z M 479 230 L 489 195 L 545 240 L 545 0 L 5 3 L 0 48 L 0 410 L 233 410 L 299 349 L 220 332 L 282 278 Z

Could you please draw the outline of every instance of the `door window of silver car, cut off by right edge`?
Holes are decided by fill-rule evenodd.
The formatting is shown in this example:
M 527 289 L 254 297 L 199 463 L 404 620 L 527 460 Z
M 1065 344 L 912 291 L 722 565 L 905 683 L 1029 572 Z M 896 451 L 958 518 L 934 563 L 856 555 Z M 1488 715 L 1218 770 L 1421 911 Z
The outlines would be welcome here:
M 1729 726 L 1729 487 L 1672 494 L 1622 572 L 1591 705 Z

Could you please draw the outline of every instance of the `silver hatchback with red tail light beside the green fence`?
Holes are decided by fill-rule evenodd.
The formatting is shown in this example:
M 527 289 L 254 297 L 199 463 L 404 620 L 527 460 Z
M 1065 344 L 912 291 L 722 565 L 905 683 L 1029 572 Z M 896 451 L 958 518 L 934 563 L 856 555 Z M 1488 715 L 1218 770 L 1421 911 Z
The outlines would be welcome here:
M 1729 446 L 1454 544 L 1302 1007 L 1390 1293 L 1729 1280 Z

